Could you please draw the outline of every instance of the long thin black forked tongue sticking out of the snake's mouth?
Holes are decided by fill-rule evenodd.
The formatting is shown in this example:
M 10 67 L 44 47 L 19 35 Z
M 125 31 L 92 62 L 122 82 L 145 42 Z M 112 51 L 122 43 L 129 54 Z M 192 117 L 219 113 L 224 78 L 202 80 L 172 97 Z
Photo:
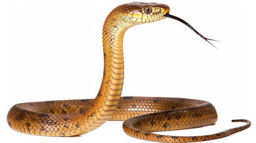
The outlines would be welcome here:
M 210 43 L 212 46 L 214 46 L 211 42 L 209 41 L 216 41 L 214 39 L 209 39 L 209 38 L 206 38 L 205 36 L 201 35 L 201 33 L 199 33 L 195 28 L 193 28 L 189 23 L 187 23 L 187 21 L 181 19 L 180 17 L 177 17 L 177 16 L 174 16 L 174 15 L 171 15 L 169 13 L 166 13 L 164 15 L 165 17 L 169 17 L 169 18 L 172 18 L 174 20 L 177 20 L 177 21 L 180 21 L 181 23 L 185 24 L 187 27 L 189 27 L 190 29 L 193 30 L 193 32 L 195 32 L 197 35 L 199 35 L 201 38 L 203 38 L 206 42 Z M 214 46 L 214 48 L 218 49 L 217 47 Z

